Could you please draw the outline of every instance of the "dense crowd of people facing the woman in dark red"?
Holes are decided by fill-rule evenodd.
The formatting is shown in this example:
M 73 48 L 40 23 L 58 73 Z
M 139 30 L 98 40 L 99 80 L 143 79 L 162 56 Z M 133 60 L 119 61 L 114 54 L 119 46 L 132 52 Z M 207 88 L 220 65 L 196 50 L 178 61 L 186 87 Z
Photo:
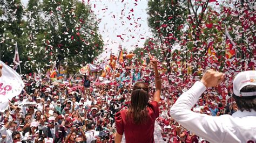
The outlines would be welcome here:
M 96 79 L 84 76 L 75 83 L 53 84 L 48 78 L 23 76 L 24 90 L 1 113 L 1 142 L 114 142 L 115 115 L 130 107 L 132 85 L 130 81 L 104 84 Z M 152 98 L 156 90 L 151 85 L 154 78 L 142 80 L 149 84 Z M 180 84 L 161 88 L 159 117 L 154 127 L 154 132 L 161 135 L 154 135 L 155 142 L 207 142 L 173 120 L 169 113 L 183 89 L 189 87 Z M 228 98 L 230 95 L 224 98 L 212 90 L 201 95 L 192 108 L 194 112 L 220 116 L 238 110 L 233 99 Z

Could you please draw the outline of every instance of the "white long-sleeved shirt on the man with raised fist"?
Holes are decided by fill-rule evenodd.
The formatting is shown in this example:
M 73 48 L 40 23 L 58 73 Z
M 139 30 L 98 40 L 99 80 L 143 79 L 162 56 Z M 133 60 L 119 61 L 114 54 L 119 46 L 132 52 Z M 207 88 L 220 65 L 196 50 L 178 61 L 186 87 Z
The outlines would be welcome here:
M 170 110 L 172 118 L 182 126 L 210 142 L 256 142 L 256 111 L 237 111 L 230 115 L 208 116 L 191 108 L 206 87 L 196 82 L 181 95 Z

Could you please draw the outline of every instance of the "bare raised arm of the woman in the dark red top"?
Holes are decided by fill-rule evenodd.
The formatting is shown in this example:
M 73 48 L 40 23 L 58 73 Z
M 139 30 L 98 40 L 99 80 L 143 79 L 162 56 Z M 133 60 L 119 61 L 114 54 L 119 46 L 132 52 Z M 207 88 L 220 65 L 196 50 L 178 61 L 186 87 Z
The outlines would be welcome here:
M 156 83 L 156 91 L 154 92 L 153 101 L 156 101 L 157 103 L 159 103 L 160 94 L 161 94 L 161 78 L 160 78 L 160 75 L 159 75 L 158 69 L 157 69 L 157 61 L 151 60 L 150 63 L 154 69 L 154 78 L 155 78 L 154 81 Z

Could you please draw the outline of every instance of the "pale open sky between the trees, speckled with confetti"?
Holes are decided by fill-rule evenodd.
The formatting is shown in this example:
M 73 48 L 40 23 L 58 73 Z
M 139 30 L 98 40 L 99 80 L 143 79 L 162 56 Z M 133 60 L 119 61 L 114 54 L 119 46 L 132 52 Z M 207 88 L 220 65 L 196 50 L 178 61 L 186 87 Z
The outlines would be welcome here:
M 26 6 L 29 0 L 22 0 Z M 85 0 L 88 4 L 88 0 Z M 90 0 L 92 11 L 99 22 L 99 33 L 104 40 L 104 52 L 99 59 L 109 57 L 110 52 L 118 54 L 118 46 L 131 51 L 143 47 L 152 33 L 147 25 L 147 1 L 138 0 Z

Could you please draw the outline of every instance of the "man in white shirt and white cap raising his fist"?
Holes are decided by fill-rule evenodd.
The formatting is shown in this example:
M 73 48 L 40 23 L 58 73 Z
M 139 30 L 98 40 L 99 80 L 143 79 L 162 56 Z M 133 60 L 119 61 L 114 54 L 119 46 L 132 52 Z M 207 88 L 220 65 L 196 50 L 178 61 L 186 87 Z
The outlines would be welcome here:
M 218 117 L 191 111 L 208 87 L 224 80 L 224 74 L 207 70 L 193 87 L 181 95 L 170 110 L 172 118 L 182 126 L 210 142 L 256 141 L 256 71 L 243 71 L 233 81 L 233 98 L 238 111 Z

